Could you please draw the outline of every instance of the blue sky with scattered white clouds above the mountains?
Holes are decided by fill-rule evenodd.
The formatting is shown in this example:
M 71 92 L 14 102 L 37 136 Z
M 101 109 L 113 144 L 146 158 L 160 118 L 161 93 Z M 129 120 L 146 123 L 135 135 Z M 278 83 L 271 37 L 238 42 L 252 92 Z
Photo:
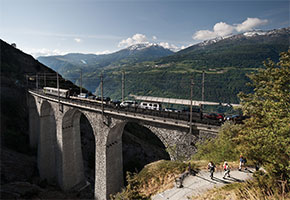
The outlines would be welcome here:
M 115 52 L 289 26 L 289 1 L 0 0 L 0 38 L 39 55 Z

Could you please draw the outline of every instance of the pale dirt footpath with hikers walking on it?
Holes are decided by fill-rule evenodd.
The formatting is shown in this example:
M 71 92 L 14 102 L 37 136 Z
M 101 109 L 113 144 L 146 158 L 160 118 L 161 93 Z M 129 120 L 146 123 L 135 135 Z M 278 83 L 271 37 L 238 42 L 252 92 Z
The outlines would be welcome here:
M 188 176 L 183 181 L 182 188 L 171 188 L 162 193 L 156 194 L 152 200 L 188 200 L 190 197 L 204 193 L 214 187 L 221 187 L 234 182 L 243 182 L 252 177 L 253 169 L 233 170 L 231 177 L 223 179 L 223 171 L 214 173 L 214 178 L 210 179 L 208 171 L 200 171 L 196 176 Z

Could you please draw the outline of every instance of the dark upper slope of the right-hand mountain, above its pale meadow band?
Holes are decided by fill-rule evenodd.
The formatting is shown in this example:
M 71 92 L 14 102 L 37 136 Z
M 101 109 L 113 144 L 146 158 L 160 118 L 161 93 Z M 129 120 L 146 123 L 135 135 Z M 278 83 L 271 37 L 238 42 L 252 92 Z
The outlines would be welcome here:
M 267 58 L 277 61 L 281 51 L 289 48 L 290 29 L 247 32 L 225 39 L 214 39 L 193 45 L 161 58 L 157 63 L 179 63 L 197 67 L 260 67 Z

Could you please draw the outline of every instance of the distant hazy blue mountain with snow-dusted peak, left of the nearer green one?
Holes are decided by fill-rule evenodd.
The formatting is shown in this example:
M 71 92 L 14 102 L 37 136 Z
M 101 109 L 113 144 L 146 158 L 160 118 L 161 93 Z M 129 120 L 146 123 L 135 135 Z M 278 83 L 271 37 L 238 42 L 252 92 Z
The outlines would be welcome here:
M 75 81 L 72 77 L 79 77 L 80 69 L 84 73 L 92 73 L 104 67 L 133 65 L 137 62 L 152 61 L 171 54 L 173 54 L 172 51 L 159 45 L 137 44 L 111 54 L 71 53 L 64 56 L 42 56 L 37 59 L 41 63 L 58 71 L 64 77 Z

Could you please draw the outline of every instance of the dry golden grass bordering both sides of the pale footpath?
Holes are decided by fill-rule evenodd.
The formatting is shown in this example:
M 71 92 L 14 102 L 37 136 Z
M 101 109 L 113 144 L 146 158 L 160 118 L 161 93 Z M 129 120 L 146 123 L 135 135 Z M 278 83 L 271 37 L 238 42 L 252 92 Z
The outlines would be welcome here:
M 192 169 L 207 170 L 207 160 L 191 160 L 189 162 L 160 160 L 146 165 L 139 174 L 127 176 L 128 185 L 114 200 L 123 199 L 150 199 L 151 196 L 161 193 L 174 186 L 174 180 L 185 172 L 188 164 Z M 238 161 L 228 162 L 232 169 L 237 169 Z M 222 171 L 222 164 L 217 163 L 218 171 Z M 250 164 L 250 163 L 249 163 Z M 257 179 L 243 183 L 233 183 L 221 188 L 214 188 L 202 195 L 193 196 L 192 200 L 290 200 L 290 194 L 276 194 L 258 184 Z

